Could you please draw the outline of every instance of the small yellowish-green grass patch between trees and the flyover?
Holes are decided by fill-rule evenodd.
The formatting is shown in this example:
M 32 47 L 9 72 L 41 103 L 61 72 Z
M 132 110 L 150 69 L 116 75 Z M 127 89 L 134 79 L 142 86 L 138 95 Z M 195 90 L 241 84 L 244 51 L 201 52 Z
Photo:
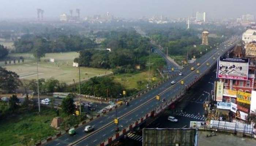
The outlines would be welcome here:
M 150 75 L 153 77 L 153 74 Z M 120 82 L 120 84 L 124 85 L 126 89 L 142 89 L 146 88 L 148 83 L 148 71 L 140 72 L 140 73 L 126 73 L 126 74 L 118 74 L 113 75 L 114 80 Z M 160 79 L 155 77 L 155 82 L 158 82 Z M 142 81 L 141 85 L 138 85 L 137 82 Z

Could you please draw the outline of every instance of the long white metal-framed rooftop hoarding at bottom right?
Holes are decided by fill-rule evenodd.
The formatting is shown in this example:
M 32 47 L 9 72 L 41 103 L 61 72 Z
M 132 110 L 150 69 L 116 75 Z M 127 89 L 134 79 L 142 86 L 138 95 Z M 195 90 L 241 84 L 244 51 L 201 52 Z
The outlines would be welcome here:
M 211 120 L 210 122 L 190 121 L 190 128 L 198 128 L 199 130 L 212 130 L 231 132 L 235 134 L 242 134 L 241 136 L 255 137 L 255 129 L 251 124 L 232 123 L 218 120 Z

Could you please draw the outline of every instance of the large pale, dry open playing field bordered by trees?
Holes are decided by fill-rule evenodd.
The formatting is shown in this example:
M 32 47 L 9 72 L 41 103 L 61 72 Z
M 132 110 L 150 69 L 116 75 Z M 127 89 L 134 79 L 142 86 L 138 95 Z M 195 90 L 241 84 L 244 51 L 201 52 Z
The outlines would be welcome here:
M 16 72 L 20 79 L 36 79 L 36 62 L 30 53 L 10 54 L 13 57 L 23 56 L 25 58 L 24 63 L 16 63 L 15 65 L 7 65 L 5 68 Z M 45 57 L 41 58 L 41 62 L 38 64 L 39 78 L 55 78 L 60 81 L 64 81 L 67 84 L 79 81 L 78 68 L 72 67 L 74 58 L 78 57 L 76 52 L 68 53 L 47 53 Z M 54 58 L 55 62 L 48 62 L 48 60 Z M 3 63 L 3 62 L 2 62 Z M 112 73 L 111 70 L 96 69 L 96 68 L 81 68 L 81 80 L 88 80 L 94 76 L 103 76 Z

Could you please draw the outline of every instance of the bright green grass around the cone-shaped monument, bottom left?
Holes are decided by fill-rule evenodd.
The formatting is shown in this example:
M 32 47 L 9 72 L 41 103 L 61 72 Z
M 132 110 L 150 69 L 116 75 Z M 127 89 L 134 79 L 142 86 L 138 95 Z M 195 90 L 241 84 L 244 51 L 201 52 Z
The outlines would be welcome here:
M 57 131 L 50 127 L 55 116 L 54 110 L 42 108 L 40 115 L 34 110 L 0 120 L 0 146 L 24 146 L 26 143 L 22 141 L 25 138 L 29 138 L 29 145 L 32 145 L 56 134 Z

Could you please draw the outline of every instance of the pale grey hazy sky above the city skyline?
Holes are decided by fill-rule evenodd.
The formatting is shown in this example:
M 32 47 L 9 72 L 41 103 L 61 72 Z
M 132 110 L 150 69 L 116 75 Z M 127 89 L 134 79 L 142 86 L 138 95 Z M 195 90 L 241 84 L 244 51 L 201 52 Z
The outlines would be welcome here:
M 164 15 L 171 18 L 195 16 L 205 11 L 211 18 L 256 15 L 256 0 L 0 0 L 0 19 L 36 18 L 36 9 L 44 9 L 45 18 L 69 14 L 81 9 L 81 16 L 105 14 L 124 18 Z

